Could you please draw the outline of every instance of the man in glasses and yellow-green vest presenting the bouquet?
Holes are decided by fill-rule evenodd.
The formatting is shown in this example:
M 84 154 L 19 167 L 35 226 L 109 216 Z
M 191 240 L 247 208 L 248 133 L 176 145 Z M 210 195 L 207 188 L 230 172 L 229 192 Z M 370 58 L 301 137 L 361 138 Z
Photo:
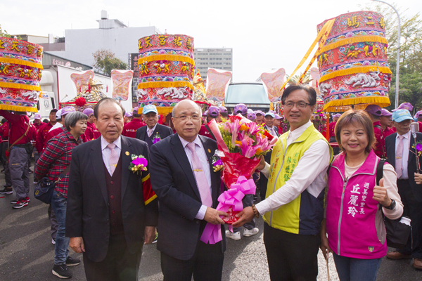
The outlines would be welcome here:
M 261 159 L 257 167 L 268 178 L 265 200 L 243 209 L 233 226 L 263 216 L 271 280 L 316 280 L 326 171 L 333 150 L 310 122 L 316 103 L 313 88 L 288 86 L 281 102 L 290 131 L 274 146 L 271 164 Z

